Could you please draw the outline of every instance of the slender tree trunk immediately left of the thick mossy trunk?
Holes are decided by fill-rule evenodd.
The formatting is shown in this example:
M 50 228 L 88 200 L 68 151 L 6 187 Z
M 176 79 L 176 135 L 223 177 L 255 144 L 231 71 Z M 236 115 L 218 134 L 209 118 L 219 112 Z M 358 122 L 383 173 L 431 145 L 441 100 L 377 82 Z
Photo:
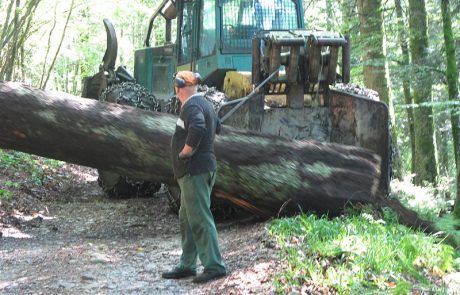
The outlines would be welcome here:
M 415 167 L 415 131 L 414 131 L 414 101 L 410 93 L 410 71 L 409 71 L 409 47 L 407 45 L 407 34 L 406 34 L 406 25 L 405 17 L 401 7 L 401 0 L 395 0 L 396 6 L 396 15 L 398 17 L 398 38 L 401 46 L 402 52 L 402 83 L 403 83 L 403 93 L 404 93 L 404 102 L 407 105 L 407 121 L 409 123 L 409 139 L 411 147 L 411 173 L 414 173 Z

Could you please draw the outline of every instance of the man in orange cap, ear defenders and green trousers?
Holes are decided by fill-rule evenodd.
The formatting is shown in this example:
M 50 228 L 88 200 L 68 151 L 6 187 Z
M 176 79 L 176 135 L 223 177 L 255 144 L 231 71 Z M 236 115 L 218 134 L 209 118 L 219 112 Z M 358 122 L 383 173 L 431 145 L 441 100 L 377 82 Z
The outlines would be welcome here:
M 197 93 L 199 82 L 199 74 L 190 71 L 178 72 L 173 78 L 182 105 L 171 141 L 174 177 L 181 189 L 182 255 L 172 271 L 162 274 L 165 279 L 195 276 L 199 257 L 204 271 L 193 278 L 194 283 L 226 275 L 210 210 L 217 170 L 214 138 L 220 130 L 220 123 L 212 104 Z

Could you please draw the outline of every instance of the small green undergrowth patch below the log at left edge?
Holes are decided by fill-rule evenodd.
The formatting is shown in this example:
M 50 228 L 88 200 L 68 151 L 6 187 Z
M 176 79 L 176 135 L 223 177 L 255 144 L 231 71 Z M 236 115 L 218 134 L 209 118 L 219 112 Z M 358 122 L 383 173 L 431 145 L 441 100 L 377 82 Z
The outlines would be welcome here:
M 42 186 L 46 175 L 54 169 L 63 166 L 63 162 L 46 159 L 17 151 L 0 149 L 0 173 L 9 175 L 8 179 L 0 181 L 0 200 L 9 200 L 14 191 L 24 182 L 30 182 L 34 186 Z

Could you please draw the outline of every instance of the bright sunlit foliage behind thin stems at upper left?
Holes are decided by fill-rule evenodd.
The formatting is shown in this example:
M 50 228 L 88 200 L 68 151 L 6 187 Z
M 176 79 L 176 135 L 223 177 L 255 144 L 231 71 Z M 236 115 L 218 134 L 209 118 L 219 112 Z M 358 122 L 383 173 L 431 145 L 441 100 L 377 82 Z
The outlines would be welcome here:
M 27 5 L 28 1 L 24 2 L 26 4 L 22 5 Z M 13 65 L 13 79 L 38 86 L 57 54 L 47 88 L 80 94 L 83 78 L 99 71 L 105 52 L 106 33 L 102 20 L 108 18 L 115 26 L 118 39 L 117 65 L 124 64 L 132 72 L 134 50 L 142 46 L 148 19 L 160 1 L 75 0 L 74 11 L 59 51 L 58 45 L 70 2 L 38 2 L 36 16 L 32 18 L 32 29 L 25 36 L 21 48 L 21 60 Z M 8 3 L 0 1 L 0 19 L 6 18 Z M 0 35 L 2 25 L 3 21 L 0 22 Z M 162 30 L 157 31 L 164 35 Z

